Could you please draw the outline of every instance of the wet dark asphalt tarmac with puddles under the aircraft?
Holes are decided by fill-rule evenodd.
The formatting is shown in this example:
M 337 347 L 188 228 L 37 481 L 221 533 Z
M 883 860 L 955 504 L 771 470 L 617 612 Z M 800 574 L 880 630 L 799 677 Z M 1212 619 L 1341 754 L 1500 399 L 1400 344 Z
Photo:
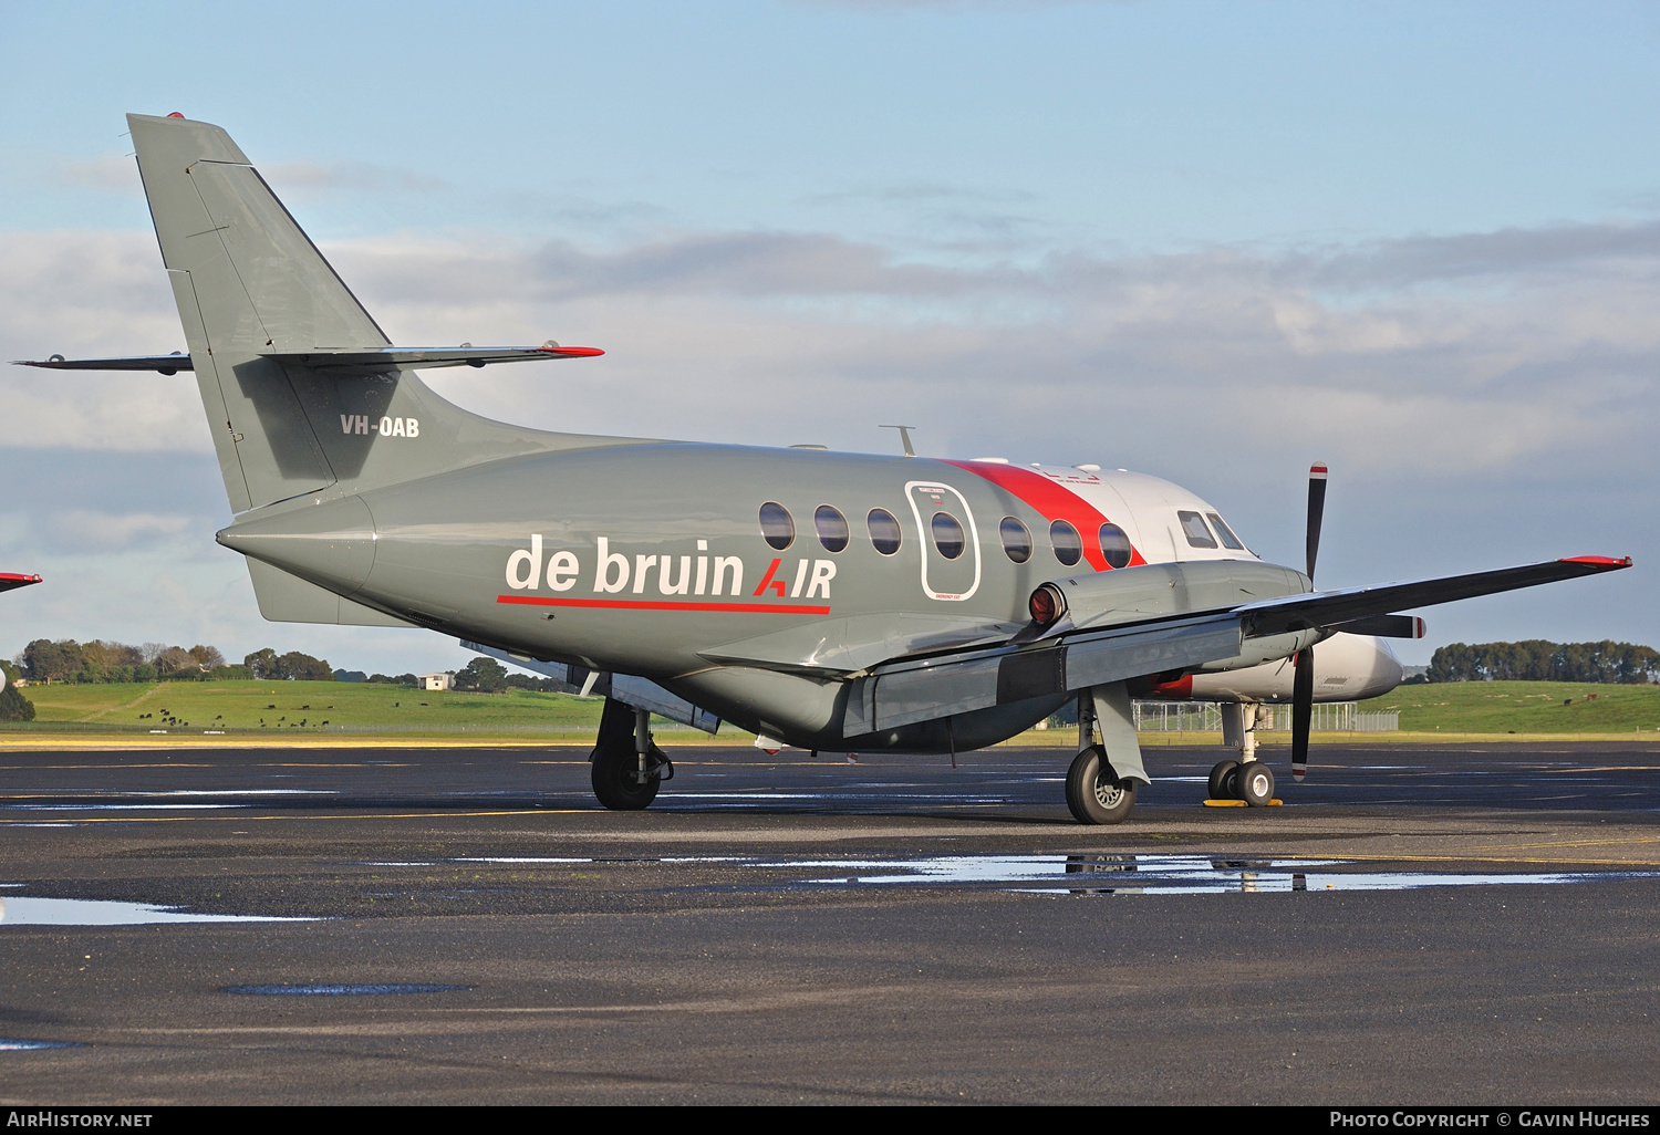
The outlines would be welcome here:
M 1265 753 L 0 753 L 0 1097 L 1657 1100 L 1660 747 Z

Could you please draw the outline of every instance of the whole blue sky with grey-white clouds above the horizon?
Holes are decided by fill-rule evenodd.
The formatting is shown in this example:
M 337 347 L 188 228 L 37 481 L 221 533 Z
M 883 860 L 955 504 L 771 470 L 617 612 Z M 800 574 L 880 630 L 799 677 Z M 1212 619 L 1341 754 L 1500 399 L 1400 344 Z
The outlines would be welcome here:
M 1125 466 L 1448 642 L 1660 645 L 1652 3 L 0 0 L 0 360 L 183 347 L 126 111 L 229 129 L 393 342 L 544 428 Z M 0 654 L 455 669 L 269 624 L 189 375 L 0 367 Z

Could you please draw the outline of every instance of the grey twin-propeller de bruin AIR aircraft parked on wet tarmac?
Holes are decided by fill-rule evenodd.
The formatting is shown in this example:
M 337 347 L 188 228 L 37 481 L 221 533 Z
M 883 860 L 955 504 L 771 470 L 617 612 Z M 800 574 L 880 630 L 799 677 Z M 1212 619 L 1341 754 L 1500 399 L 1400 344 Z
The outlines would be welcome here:
M 261 612 L 430 627 L 603 694 L 608 808 L 644 808 L 674 775 L 652 712 L 813 750 L 954 753 L 1076 700 L 1066 800 L 1116 823 L 1147 783 L 1135 695 L 1225 702 L 1240 760 L 1210 795 L 1265 805 L 1257 709 L 1291 702 L 1301 775 L 1313 702 L 1399 682 L 1381 637 L 1423 621 L 1396 612 L 1630 566 L 1315 591 L 1325 466 L 1296 571 L 1124 470 L 490 421 L 415 372 L 601 352 L 393 347 L 222 129 L 128 123 L 189 355 L 30 365 L 193 370 L 236 513 L 219 543 L 247 558 Z

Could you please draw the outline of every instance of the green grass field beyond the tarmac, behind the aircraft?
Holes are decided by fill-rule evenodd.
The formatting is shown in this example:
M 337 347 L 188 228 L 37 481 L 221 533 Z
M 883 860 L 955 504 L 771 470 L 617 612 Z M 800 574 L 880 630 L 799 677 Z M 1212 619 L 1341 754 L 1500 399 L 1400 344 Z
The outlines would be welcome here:
M 30 685 L 32 723 L 0 725 L 0 737 L 126 733 L 163 742 L 203 738 L 224 730 L 242 740 L 428 737 L 453 740 L 591 740 L 599 699 L 568 694 L 420 692 L 362 682 L 163 682 L 159 685 Z M 1365 702 L 1366 710 L 1399 710 L 1399 733 L 1330 733 L 1330 740 L 1444 737 L 1653 737 L 1660 742 L 1660 685 L 1574 685 L 1565 682 L 1451 682 L 1403 685 Z M 672 722 L 676 743 L 704 738 Z M 1056 745 L 1069 730 L 1031 732 L 1014 743 Z M 1220 740 L 1220 733 L 1213 735 Z M 742 730 L 722 727 L 720 740 L 744 743 Z M 1204 743 L 1210 733 L 1144 733 L 1144 743 Z M 1268 743 L 1288 733 L 1265 732 Z

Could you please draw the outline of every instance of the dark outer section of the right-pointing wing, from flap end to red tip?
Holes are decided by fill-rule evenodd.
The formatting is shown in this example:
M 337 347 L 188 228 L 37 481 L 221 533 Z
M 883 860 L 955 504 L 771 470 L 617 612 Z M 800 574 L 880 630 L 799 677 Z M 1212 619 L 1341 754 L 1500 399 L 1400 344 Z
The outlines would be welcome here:
M 1597 576 L 1605 571 L 1630 568 L 1630 556 L 1572 556 L 1547 559 L 1542 564 L 1477 571 L 1467 576 L 1441 579 L 1416 579 L 1413 582 L 1378 584 L 1374 587 L 1345 587 L 1341 591 L 1315 591 L 1282 599 L 1263 599 L 1233 607 L 1245 624 L 1245 636 L 1286 634 L 1308 627 L 1335 627 L 1366 616 L 1389 614 L 1401 607 L 1429 607 L 1438 602 L 1496 596 L 1502 591 L 1537 587 L 1539 584 Z M 1348 627 L 1343 627 L 1348 631 Z

